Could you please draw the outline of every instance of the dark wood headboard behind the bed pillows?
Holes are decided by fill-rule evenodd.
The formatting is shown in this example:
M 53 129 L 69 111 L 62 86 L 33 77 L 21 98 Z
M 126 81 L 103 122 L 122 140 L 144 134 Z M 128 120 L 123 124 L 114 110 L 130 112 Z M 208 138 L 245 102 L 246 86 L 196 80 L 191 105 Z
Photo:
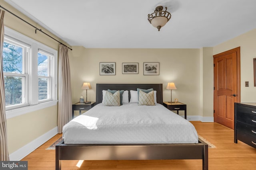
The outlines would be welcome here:
M 130 90 L 149 89 L 156 90 L 156 102 L 163 104 L 163 84 L 96 84 L 96 104 L 102 102 L 102 90 L 128 90 L 130 101 Z

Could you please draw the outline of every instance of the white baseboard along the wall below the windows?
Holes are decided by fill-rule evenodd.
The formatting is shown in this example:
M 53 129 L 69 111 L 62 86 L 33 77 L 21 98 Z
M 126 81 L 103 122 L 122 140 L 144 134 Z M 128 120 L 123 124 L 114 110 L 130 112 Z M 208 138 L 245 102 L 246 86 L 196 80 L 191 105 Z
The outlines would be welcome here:
M 44 144 L 46 141 L 54 137 L 58 133 L 58 127 L 54 127 L 52 130 L 46 132 L 44 135 L 38 137 L 34 141 L 28 143 L 27 145 L 21 147 L 20 149 L 12 152 L 9 157 L 12 161 L 19 161 L 31 152 L 33 152 L 35 149 L 40 147 L 42 144 Z

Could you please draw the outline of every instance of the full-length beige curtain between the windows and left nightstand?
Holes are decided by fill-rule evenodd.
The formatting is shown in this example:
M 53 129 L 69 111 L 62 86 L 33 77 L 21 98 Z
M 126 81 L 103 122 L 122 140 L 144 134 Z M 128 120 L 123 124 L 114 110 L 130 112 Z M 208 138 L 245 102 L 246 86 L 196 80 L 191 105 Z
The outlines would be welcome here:
M 71 120 L 71 76 L 68 59 L 68 47 L 59 45 L 58 65 L 58 133 L 62 133 L 62 127 Z

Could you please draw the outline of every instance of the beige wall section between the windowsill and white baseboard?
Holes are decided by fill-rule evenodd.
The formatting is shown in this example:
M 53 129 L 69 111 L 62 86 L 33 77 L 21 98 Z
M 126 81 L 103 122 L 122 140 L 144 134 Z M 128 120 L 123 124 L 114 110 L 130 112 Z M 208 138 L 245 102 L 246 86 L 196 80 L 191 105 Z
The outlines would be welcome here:
M 57 126 L 57 105 L 7 119 L 8 148 L 12 153 Z

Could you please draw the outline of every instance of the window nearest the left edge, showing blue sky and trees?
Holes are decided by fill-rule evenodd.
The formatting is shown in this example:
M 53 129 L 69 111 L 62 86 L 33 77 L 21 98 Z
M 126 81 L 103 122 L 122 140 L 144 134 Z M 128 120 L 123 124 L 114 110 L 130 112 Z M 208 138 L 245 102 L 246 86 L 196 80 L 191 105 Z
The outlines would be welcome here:
M 3 71 L 6 106 L 26 104 L 26 84 L 28 81 L 26 51 L 22 44 L 5 39 L 3 44 Z

